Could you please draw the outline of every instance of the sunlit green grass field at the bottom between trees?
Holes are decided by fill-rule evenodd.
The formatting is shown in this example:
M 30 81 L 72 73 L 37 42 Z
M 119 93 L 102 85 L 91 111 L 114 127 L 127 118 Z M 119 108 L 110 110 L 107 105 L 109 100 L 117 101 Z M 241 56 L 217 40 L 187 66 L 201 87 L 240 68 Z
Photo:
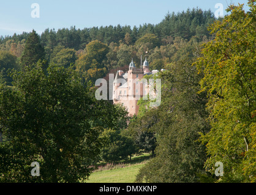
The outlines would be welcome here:
M 89 180 L 86 183 L 134 183 L 138 171 L 148 161 L 149 155 L 142 155 L 134 157 L 131 163 L 119 163 L 113 165 L 101 167 L 94 171 Z

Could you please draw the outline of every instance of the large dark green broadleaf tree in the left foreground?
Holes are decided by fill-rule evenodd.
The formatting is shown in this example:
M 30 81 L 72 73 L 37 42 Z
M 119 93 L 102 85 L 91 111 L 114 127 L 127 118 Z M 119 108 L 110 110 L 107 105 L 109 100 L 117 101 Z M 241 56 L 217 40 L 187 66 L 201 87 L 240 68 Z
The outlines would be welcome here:
M 100 129 L 113 127 L 113 108 L 96 101 L 72 67 L 50 65 L 47 73 L 40 63 L 25 66 L 12 74 L 13 88 L 0 85 L 1 182 L 86 179 L 99 159 Z M 40 177 L 31 176 L 32 161 Z

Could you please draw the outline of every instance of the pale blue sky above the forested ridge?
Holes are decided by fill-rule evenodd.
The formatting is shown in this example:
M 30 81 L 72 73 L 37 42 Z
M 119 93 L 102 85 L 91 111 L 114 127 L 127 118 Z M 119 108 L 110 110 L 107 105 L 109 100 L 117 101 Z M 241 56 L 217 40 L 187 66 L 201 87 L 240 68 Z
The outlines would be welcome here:
M 157 24 L 164 19 L 167 12 L 181 12 L 192 8 L 212 10 L 215 5 L 245 3 L 246 0 L 1 0 L 0 4 L 0 36 L 21 34 L 32 29 L 41 34 L 43 30 L 69 28 L 77 29 L 93 26 L 121 26 L 131 27 L 140 24 Z M 31 5 L 40 6 L 39 18 L 32 18 Z

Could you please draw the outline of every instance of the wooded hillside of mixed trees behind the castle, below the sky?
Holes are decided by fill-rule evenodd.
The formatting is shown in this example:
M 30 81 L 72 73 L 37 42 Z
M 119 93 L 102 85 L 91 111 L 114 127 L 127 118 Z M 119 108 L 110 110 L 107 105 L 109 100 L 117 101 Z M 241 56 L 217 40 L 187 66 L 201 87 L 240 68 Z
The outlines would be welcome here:
M 192 38 L 198 42 L 208 40 L 211 35 L 207 27 L 215 19 L 211 11 L 188 9 L 176 14 L 167 13 L 162 22 L 156 25 L 143 24 L 133 28 L 120 25 L 85 29 L 70 27 L 57 31 L 46 29 L 39 37 L 40 44 L 45 49 L 44 59 L 48 63 L 58 63 L 66 67 L 73 63 L 75 68 L 86 74 L 86 80 L 94 82 L 99 77 L 105 77 L 111 69 L 124 69 L 132 58 L 140 65 L 141 55 L 143 59 L 148 57 L 151 69 L 164 68 L 170 63 L 171 56 L 178 51 L 177 44 Z M 1 37 L 0 51 L 10 52 L 17 63 L 10 64 L 10 68 L 21 65 L 21 55 L 28 37 L 28 32 Z M 89 46 L 91 49 L 102 48 L 104 51 L 101 56 L 91 56 L 88 54 Z M 88 60 L 88 56 L 91 59 Z M 96 62 L 92 65 L 94 59 Z M 0 64 L 0 69 L 4 67 Z

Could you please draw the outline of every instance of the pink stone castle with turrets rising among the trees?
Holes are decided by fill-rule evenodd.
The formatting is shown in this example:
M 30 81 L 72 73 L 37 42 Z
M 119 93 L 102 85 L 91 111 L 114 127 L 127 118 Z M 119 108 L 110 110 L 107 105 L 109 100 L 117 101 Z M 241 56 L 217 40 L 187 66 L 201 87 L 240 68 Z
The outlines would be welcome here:
M 140 99 L 143 94 L 148 94 L 148 86 L 144 86 L 140 82 L 143 76 L 146 74 L 157 73 L 157 70 L 149 71 L 149 63 L 145 59 L 143 66 L 141 68 L 136 68 L 135 63 L 132 60 L 129 65 L 129 70 L 124 73 L 124 71 L 117 71 L 115 80 L 113 82 L 113 103 L 122 104 L 126 107 L 129 115 L 137 115 L 138 113 L 138 99 Z

